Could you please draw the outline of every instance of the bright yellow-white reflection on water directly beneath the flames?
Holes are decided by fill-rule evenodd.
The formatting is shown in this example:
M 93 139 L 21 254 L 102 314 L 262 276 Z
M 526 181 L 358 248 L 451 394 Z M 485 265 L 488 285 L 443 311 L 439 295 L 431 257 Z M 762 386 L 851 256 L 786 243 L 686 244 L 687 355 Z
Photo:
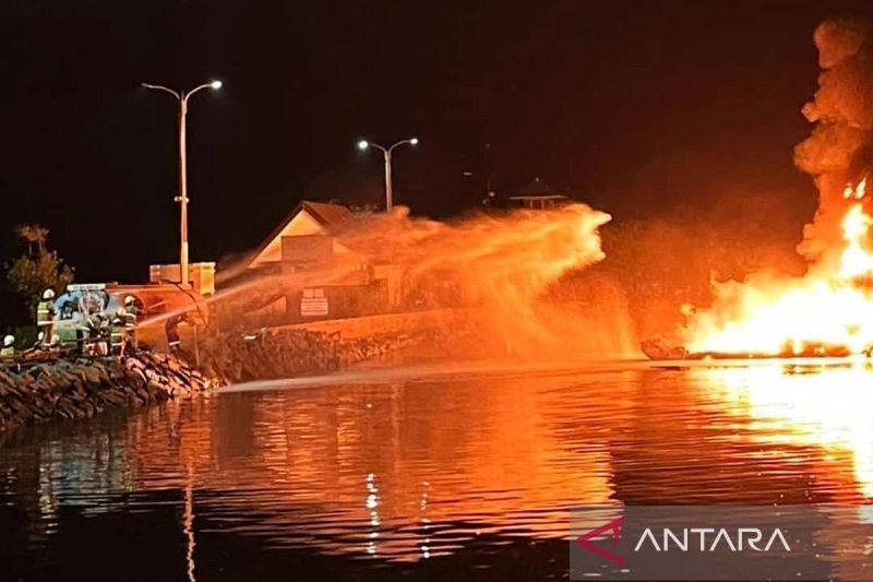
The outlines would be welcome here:
M 849 454 L 858 492 L 873 498 L 873 370 L 861 360 L 839 367 L 765 365 L 703 370 L 708 390 L 748 416 L 763 443 L 821 447 Z

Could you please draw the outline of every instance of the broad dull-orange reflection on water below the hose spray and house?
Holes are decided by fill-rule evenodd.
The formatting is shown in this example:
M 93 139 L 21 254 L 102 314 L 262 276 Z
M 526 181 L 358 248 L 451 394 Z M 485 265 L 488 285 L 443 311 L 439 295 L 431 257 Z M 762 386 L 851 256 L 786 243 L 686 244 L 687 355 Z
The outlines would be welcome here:
M 254 409 L 246 407 L 256 394 L 227 395 L 213 420 L 220 429 L 180 420 L 176 452 L 160 424 L 141 424 L 137 458 L 154 468 L 171 466 L 176 454 L 190 459 L 198 489 L 225 491 L 223 503 L 264 503 L 277 513 L 260 527 L 285 545 L 319 539 L 328 554 L 426 559 L 490 533 L 561 537 L 569 507 L 609 500 L 610 458 L 596 444 L 602 429 L 555 428 L 554 411 L 578 405 L 622 418 L 629 404 L 567 403 L 573 382 L 537 381 L 266 394 L 270 405 Z M 574 437 L 576 450 L 566 446 Z M 200 513 L 210 502 L 199 500 Z

